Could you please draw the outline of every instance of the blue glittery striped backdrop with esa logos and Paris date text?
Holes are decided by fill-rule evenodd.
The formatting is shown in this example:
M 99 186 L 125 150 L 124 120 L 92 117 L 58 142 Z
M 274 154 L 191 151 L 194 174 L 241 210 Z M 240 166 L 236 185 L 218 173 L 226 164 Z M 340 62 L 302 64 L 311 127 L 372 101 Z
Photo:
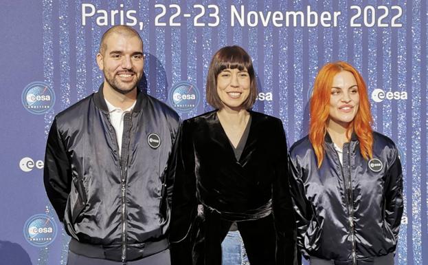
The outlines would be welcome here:
M 144 40 L 142 87 L 183 119 L 211 109 L 214 52 L 244 47 L 257 74 L 254 109 L 282 119 L 289 145 L 307 132 L 319 68 L 357 67 L 374 129 L 396 142 L 403 165 L 396 262 L 428 265 L 426 0 L 20 0 L 2 1 L 0 19 L 0 264 L 65 264 L 69 237 L 43 187 L 45 141 L 58 112 L 98 90 L 100 38 L 122 23 Z

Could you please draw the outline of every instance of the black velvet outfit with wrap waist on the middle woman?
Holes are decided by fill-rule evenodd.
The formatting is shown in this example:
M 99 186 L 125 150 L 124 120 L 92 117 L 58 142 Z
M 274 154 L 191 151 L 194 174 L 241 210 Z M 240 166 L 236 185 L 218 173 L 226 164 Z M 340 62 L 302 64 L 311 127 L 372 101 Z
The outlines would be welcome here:
M 239 160 L 216 111 L 183 122 L 172 193 L 172 264 L 220 265 L 221 242 L 233 222 L 251 265 L 296 264 L 282 122 L 250 114 Z

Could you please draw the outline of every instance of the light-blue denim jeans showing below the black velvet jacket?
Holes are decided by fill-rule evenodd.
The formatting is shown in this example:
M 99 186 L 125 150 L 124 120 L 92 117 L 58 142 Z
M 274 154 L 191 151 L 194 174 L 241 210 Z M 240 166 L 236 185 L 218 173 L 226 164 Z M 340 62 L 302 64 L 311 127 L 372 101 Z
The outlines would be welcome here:
M 239 231 L 229 231 L 221 243 L 222 265 L 249 265 Z

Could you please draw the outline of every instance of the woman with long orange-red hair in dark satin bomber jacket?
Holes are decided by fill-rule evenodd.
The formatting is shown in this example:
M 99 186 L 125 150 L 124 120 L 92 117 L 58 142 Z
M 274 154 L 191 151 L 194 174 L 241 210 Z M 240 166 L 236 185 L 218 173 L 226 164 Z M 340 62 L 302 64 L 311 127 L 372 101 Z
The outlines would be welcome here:
M 311 265 L 394 264 L 403 176 L 394 142 L 372 130 L 363 78 L 324 65 L 310 109 L 309 135 L 290 149 L 299 248 Z

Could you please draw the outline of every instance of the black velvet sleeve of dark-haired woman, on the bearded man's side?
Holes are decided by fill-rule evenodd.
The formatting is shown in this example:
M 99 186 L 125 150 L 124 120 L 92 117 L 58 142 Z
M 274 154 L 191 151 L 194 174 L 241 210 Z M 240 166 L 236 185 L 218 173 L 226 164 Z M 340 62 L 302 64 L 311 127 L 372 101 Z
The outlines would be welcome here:
M 188 123 L 183 122 L 177 147 L 177 168 L 172 191 L 170 254 L 172 265 L 192 264 L 192 223 L 197 215 L 194 149 Z

